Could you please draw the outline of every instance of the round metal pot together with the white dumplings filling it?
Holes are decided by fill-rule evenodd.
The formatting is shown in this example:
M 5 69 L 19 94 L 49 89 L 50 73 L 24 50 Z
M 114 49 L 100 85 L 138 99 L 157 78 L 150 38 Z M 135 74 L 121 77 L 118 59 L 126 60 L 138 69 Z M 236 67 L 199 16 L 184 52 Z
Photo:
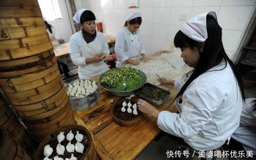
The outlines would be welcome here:
M 94 80 L 74 80 L 65 88 L 73 110 L 86 110 L 99 102 L 99 87 Z

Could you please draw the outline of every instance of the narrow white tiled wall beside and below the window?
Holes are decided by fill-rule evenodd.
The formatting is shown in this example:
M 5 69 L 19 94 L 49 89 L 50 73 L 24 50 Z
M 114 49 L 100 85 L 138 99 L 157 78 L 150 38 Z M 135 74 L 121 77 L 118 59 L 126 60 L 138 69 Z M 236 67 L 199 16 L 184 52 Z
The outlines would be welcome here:
M 66 5 L 66 2 L 68 5 Z M 64 39 L 65 42 L 69 42 L 69 38 L 74 32 L 72 32 L 72 30 L 74 30 L 74 25 L 70 25 L 71 16 L 69 16 L 69 14 L 71 14 L 71 10 L 68 0 L 66 0 L 66 2 L 65 0 L 58 0 L 62 19 L 51 20 L 48 21 L 48 23 L 54 26 L 57 39 Z

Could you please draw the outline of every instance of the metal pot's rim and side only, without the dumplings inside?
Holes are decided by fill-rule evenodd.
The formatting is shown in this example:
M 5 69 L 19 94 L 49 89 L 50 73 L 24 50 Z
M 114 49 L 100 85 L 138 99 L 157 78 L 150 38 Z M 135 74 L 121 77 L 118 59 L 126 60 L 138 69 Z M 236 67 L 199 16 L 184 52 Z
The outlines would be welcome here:
M 86 79 L 78 79 L 79 80 L 86 80 Z M 90 79 L 89 79 L 90 80 Z M 90 80 L 93 82 L 93 80 Z M 76 80 L 68 83 L 73 85 Z M 67 90 L 68 84 L 65 85 L 65 89 Z M 98 83 L 96 83 L 98 86 Z M 69 98 L 70 104 L 72 106 L 72 110 L 86 110 L 88 108 L 93 107 L 95 104 L 97 104 L 100 100 L 100 94 L 99 94 L 99 86 L 97 89 L 90 95 L 84 96 L 82 98 Z

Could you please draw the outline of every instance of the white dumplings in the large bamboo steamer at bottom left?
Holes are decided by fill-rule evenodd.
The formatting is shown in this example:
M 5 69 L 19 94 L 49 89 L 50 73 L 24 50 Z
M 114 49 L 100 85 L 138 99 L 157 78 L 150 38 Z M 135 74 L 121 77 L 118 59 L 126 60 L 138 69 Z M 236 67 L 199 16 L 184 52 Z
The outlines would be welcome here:
M 66 139 L 69 141 L 69 143 L 66 146 L 66 150 L 69 153 L 74 153 L 74 151 L 76 150 L 76 152 L 79 153 L 83 153 L 84 151 L 84 145 L 82 143 L 80 143 L 83 139 L 84 136 L 82 134 L 79 133 L 79 131 L 76 131 L 76 145 L 71 144 L 71 140 L 74 138 L 74 134 L 72 133 L 72 130 L 69 131 L 69 133 L 66 136 Z M 57 136 L 58 139 L 58 145 L 56 147 L 56 152 L 58 155 L 64 155 L 65 152 L 65 146 L 61 145 L 60 142 L 62 142 L 65 139 L 65 135 L 64 132 L 60 132 L 60 134 Z M 49 156 L 51 156 L 53 152 L 52 147 L 50 147 L 50 144 L 47 144 L 44 147 L 44 160 L 52 160 L 49 158 Z M 54 160 L 64 160 L 63 158 L 59 157 L 59 156 L 55 156 Z M 71 154 L 71 158 L 65 158 L 65 160 L 77 160 L 77 158 Z

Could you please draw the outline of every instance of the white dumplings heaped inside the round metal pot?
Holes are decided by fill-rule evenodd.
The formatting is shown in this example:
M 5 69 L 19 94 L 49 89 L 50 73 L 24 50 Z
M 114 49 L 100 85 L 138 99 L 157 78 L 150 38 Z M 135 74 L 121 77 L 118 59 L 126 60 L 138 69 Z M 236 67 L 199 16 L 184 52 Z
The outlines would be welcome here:
M 66 91 L 69 98 L 82 98 L 92 94 L 97 88 L 98 85 L 95 81 L 76 80 L 73 85 L 68 84 Z

